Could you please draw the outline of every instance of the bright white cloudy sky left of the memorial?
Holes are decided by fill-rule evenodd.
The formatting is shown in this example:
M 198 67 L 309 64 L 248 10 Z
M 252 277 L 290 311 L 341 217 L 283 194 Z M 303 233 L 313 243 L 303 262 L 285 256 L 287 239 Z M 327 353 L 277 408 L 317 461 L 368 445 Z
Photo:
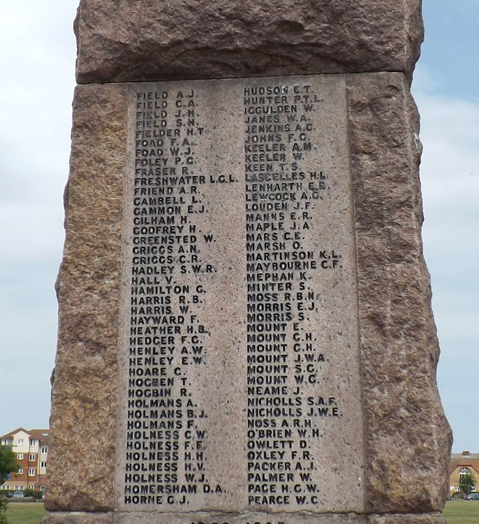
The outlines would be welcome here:
M 45 427 L 50 412 L 77 5 L 0 6 L 0 434 Z

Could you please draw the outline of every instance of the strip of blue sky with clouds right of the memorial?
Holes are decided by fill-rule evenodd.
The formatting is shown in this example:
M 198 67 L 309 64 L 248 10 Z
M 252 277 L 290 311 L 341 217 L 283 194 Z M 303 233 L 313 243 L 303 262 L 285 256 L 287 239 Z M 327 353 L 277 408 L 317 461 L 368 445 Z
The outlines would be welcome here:
M 479 452 L 479 1 L 423 0 L 413 94 L 421 113 L 424 251 L 453 451 Z

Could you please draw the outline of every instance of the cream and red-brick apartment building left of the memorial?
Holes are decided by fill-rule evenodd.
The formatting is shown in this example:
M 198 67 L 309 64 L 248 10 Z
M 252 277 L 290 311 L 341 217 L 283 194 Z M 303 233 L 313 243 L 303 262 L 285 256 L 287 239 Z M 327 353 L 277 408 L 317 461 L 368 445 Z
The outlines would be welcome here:
M 0 437 L 0 444 L 12 446 L 20 470 L 8 475 L 1 490 L 45 491 L 47 485 L 48 437 L 50 430 L 24 430 L 17 428 Z

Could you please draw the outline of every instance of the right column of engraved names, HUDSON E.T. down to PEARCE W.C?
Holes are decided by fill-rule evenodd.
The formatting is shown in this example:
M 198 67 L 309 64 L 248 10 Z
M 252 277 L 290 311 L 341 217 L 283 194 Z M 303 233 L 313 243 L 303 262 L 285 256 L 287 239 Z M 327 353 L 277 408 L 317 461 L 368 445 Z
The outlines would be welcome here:
M 327 267 L 305 240 L 327 186 L 321 171 L 304 168 L 318 103 L 307 84 L 244 89 L 250 505 L 320 504 L 310 393 L 325 356 L 309 330 L 310 282 Z

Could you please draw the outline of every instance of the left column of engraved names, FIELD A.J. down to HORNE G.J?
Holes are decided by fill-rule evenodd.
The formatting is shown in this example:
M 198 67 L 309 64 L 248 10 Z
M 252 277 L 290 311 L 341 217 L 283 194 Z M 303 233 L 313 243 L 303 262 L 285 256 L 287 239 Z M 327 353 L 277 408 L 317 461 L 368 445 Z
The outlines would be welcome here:
M 193 89 L 135 94 L 131 316 L 124 503 L 189 504 L 205 476 L 205 411 L 187 370 L 203 365 L 205 288 L 195 217 L 205 212 Z M 193 278 L 191 276 L 193 275 Z

